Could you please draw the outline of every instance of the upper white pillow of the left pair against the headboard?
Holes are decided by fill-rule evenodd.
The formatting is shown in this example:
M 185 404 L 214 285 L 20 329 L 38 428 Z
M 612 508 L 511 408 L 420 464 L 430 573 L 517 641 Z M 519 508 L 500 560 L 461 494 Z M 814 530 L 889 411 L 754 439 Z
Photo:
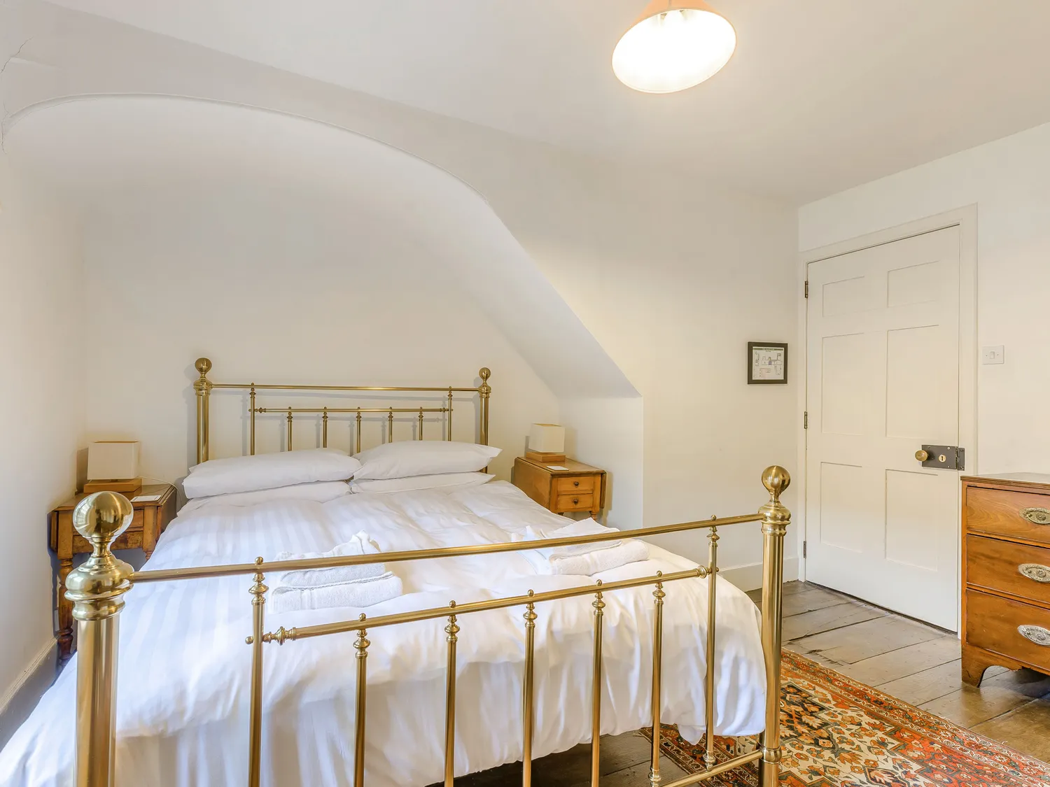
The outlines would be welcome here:
M 209 460 L 190 469 L 183 481 L 187 497 L 254 492 L 317 481 L 346 481 L 361 466 L 338 448 L 261 453 Z

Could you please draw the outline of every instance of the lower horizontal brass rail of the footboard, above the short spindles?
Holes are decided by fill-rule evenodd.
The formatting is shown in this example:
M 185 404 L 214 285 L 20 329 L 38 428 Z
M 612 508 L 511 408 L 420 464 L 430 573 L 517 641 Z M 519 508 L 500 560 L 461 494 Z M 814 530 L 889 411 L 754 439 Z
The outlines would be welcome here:
M 542 593 L 528 593 L 521 596 L 506 596 L 505 598 L 488 598 L 484 601 L 469 601 L 458 604 L 450 603 L 448 607 L 432 607 L 426 610 L 416 610 L 414 612 L 398 612 L 393 615 L 380 615 L 375 618 L 366 618 L 364 615 L 358 620 L 340 620 L 335 623 L 319 623 L 317 625 L 306 625 L 301 629 L 279 629 L 276 633 L 264 634 L 264 642 L 277 642 L 284 644 L 288 640 L 308 639 L 310 637 L 323 637 L 329 634 L 342 634 L 344 632 L 356 632 L 361 629 L 377 629 L 382 625 L 397 625 L 398 623 L 415 623 L 419 620 L 434 620 L 444 618 L 448 615 L 467 615 L 471 612 L 484 612 L 486 610 L 504 610 L 508 607 L 524 607 L 527 603 L 542 603 L 543 601 L 556 601 L 562 598 L 573 598 L 575 596 L 591 596 L 601 591 L 624 590 L 625 588 L 640 588 L 646 584 L 656 582 L 673 582 L 676 579 L 696 579 L 708 575 L 707 568 L 700 566 L 689 571 L 675 571 L 671 574 L 657 572 L 651 576 L 637 577 L 635 579 L 618 579 L 613 582 L 603 582 L 598 580 L 595 584 L 586 584 L 579 588 L 563 588 L 561 590 L 544 591 Z

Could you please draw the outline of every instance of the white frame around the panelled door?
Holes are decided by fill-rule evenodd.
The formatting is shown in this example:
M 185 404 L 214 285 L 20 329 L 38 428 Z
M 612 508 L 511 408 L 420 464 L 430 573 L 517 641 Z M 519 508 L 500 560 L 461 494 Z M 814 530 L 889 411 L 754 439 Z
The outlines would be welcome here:
M 875 246 L 884 246 L 896 240 L 925 235 L 937 230 L 959 227 L 959 445 L 966 449 L 966 470 L 969 475 L 975 475 L 978 468 L 978 206 L 968 205 L 963 208 L 938 213 L 897 227 L 886 228 L 877 232 L 849 238 L 837 243 L 808 249 L 799 252 L 798 298 L 802 307 L 799 310 L 798 333 L 802 369 L 799 373 L 802 384 L 798 387 L 798 465 L 801 468 L 799 492 L 796 497 L 798 513 L 798 554 L 799 579 L 805 579 L 805 558 L 802 557 L 802 544 L 806 540 L 806 486 L 808 468 L 806 467 L 806 430 L 803 427 L 803 412 L 808 402 L 810 358 L 808 347 L 808 302 L 805 299 L 805 282 L 808 278 L 811 262 L 819 262 L 843 254 L 859 252 Z M 961 501 L 961 497 L 957 497 Z M 961 504 L 960 504 L 961 505 Z M 958 561 L 962 560 L 962 534 L 957 546 Z M 957 604 L 958 608 L 958 604 Z M 957 612 L 958 618 L 958 612 Z

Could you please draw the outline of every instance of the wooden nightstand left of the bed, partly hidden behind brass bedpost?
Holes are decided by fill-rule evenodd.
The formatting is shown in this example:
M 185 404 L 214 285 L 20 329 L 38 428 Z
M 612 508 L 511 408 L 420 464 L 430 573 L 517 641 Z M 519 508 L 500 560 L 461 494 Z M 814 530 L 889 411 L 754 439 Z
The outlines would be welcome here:
M 139 495 L 159 494 L 155 501 L 133 503 L 134 518 L 121 537 L 113 541 L 113 549 L 141 549 L 147 559 L 156 549 L 156 539 L 168 523 L 175 518 L 175 488 L 169 484 L 144 485 Z M 72 510 L 86 495 L 78 494 L 60 506 L 50 515 L 50 547 L 59 558 L 58 611 L 59 658 L 65 661 L 74 651 L 72 601 L 65 597 L 65 580 L 72 571 L 72 556 L 90 554 L 91 545 L 72 526 Z

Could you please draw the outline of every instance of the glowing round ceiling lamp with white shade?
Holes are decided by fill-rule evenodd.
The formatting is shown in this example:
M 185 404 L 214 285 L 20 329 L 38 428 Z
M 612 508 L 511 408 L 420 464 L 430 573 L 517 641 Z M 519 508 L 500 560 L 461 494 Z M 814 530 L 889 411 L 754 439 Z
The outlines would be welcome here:
M 721 70 L 736 30 L 704 0 L 652 0 L 612 51 L 612 70 L 628 87 L 673 93 Z

